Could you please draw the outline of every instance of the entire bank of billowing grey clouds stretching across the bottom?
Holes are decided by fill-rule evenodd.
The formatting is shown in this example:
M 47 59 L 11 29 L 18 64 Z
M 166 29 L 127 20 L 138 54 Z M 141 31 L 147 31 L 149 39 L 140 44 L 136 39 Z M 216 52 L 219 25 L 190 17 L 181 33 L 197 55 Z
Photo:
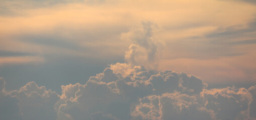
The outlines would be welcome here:
M 128 65 L 117 63 L 113 65 Z M 122 67 L 120 66 L 120 67 Z M 4 119 L 255 119 L 256 85 L 213 88 L 199 77 L 134 66 L 128 75 L 106 68 L 86 84 L 62 85 L 59 95 L 28 82 L 5 91 L 0 78 Z M 116 73 L 114 72 L 116 70 Z

